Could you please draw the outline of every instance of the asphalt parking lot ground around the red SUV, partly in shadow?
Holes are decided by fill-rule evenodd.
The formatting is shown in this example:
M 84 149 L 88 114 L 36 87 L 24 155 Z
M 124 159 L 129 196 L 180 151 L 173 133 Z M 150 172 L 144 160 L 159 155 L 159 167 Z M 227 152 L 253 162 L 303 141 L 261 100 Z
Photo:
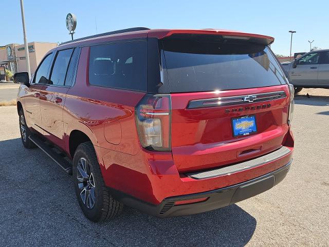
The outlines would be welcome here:
M 125 208 L 106 223 L 83 216 L 46 154 L 23 148 L 16 107 L 0 116 L 0 246 L 329 246 L 329 96 L 297 96 L 294 162 L 271 190 L 179 218 Z

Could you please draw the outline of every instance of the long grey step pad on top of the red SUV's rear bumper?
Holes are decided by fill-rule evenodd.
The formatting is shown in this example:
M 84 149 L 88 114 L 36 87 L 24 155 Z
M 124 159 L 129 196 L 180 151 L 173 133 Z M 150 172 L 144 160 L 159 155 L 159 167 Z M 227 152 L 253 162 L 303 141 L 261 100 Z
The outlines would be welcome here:
M 290 152 L 289 148 L 281 147 L 277 151 L 254 158 L 253 160 L 250 160 L 250 161 L 245 161 L 245 162 L 242 162 L 239 164 L 226 166 L 223 168 L 207 170 L 207 171 L 190 172 L 190 173 L 186 173 L 186 175 L 192 179 L 209 179 L 209 178 L 219 177 L 219 176 L 227 175 L 230 173 L 243 171 L 243 170 L 247 170 L 250 168 L 257 167 L 257 166 L 261 166 L 261 165 L 271 162 L 271 161 L 275 161 L 278 158 L 285 156 L 289 152 Z

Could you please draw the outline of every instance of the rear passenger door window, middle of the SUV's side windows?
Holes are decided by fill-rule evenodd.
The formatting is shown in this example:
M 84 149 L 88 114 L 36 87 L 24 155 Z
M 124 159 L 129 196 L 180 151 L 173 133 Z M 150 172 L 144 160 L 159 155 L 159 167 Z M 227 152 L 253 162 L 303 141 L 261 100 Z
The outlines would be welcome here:
M 64 85 L 67 66 L 71 59 L 73 49 L 60 50 L 57 52 L 55 62 L 51 70 L 51 76 L 48 84 Z

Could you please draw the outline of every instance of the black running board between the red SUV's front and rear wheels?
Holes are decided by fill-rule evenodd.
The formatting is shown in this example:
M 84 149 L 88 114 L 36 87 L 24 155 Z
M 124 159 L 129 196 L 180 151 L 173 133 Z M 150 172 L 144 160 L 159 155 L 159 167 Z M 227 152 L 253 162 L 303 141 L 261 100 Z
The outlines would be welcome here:
M 64 171 L 72 175 L 72 164 L 64 153 L 36 135 L 29 136 L 29 139 L 49 157 L 51 157 L 52 160 L 56 162 Z

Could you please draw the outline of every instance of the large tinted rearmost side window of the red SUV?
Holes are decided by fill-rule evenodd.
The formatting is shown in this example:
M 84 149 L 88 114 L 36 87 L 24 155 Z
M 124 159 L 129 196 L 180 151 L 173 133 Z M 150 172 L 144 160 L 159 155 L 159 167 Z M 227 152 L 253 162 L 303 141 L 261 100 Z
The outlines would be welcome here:
M 146 41 L 91 46 L 89 83 L 118 89 L 147 91 Z

